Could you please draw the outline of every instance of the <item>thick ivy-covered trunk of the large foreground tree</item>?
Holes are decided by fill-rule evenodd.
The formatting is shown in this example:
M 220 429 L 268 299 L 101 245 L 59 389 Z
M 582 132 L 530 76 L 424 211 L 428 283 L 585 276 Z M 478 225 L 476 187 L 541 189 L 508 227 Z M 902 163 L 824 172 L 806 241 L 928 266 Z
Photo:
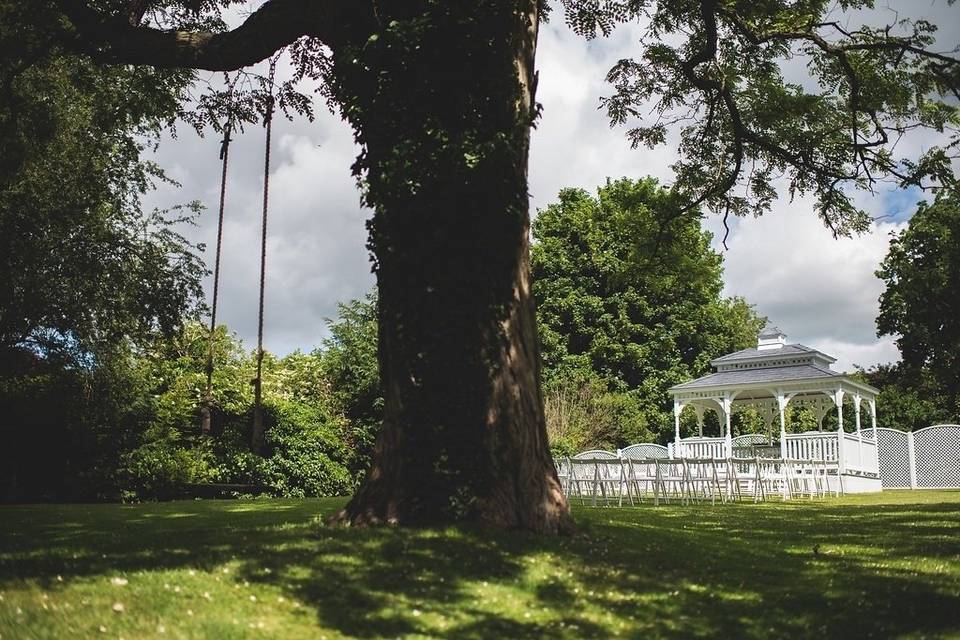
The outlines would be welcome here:
M 334 59 L 376 210 L 386 401 L 340 519 L 569 532 L 528 259 L 537 3 L 424 2 L 382 21 Z

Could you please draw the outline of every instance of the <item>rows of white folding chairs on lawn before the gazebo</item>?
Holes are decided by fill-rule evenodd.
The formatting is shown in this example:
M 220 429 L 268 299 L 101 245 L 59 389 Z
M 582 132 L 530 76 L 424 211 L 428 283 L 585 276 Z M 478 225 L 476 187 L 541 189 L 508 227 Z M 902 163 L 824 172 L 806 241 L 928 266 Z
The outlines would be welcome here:
M 784 500 L 841 492 L 828 463 L 780 458 L 564 458 L 557 471 L 568 499 L 581 504 L 635 505 L 650 499 L 692 502 L 779 496 Z

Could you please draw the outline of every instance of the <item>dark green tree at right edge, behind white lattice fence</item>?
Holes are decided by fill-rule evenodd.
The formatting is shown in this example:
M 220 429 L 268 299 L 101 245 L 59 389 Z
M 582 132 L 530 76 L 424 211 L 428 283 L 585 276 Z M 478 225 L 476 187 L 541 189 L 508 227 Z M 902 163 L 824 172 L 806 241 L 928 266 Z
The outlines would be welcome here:
M 880 296 L 878 335 L 896 336 L 903 367 L 918 380 L 932 381 L 944 396 L 949 414 L 960 418 L 957 191 L 945 190 L 932 204 L 920 203 L 907 228 L 890 241 L 877 277 L 886 283 Z M 899 383 L 895 386 L 902 388 Z M 915 424 L 915 419 L 904 419 Z

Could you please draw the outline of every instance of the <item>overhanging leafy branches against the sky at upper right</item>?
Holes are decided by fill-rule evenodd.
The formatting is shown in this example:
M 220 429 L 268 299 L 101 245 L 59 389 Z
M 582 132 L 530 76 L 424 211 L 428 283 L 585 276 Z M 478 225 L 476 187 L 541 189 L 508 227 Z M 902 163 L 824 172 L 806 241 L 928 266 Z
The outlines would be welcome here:
M 823 221 L 849 234 L 870 223 L 854 188 L 955 183 L 960 58 L 957 43 L 938 48 L 928 21 L 871 26 L 837 13 L 872 0 L 562 4 L 586 38 L 645 25 L 636 55 L 610 69 L 602 106 L 612 124 L 631 126 L 634 147 L 662 145 L 679 129 L 673 168 L 689 210 L 761 213 L 783 177 L 791 197 L 814 195 Z M 943 143 L 898 155 L 897 142 L 917 129 Z

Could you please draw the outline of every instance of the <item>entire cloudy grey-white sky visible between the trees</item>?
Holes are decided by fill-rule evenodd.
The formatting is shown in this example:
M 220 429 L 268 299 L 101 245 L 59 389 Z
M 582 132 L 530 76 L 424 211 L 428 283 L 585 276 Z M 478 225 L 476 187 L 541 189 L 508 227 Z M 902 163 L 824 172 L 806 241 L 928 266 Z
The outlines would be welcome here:
M 878 4 L 883 8 L 868 20 L 888 20 L 894 10 L 901 16 L 922 15 L 941 25 L 939 48 L 950 49 L 958 41 L 956 7 L 915 0 L 891 2 L 892 9 Z M 610 93 L 603 80 L 606 71 L 636 51 L 639 26 L 585 43 L 559 18 L 542 29 L 537 52 L 537 98 L 544 111 L 532 140 L 531 211 L 548 205 L 561 188 L 593 190 L 608 176 L 653 175 L 669 183 L 670 146 L 631 150 L 624 130 L 611 129 L 597 109 L 600 96 Z M 916 148 L 928 143 L 911 141 Z M 165 140 L 156 159 L 182 188 L 162 188 L 148 201 L 170 206 L 196 199 L 207 206 L 188 235 L 206 242 L 211 266 L 218 152 L 215 134 L 200 138 L 183 128 L 177 139 Z M 361 297 L 373 285 L 364 246 L 370 212 L 360 207 L 350 176 L 356 153 L 348 126 L 322 105 L 312 123 L 275 121 L 265 334 L 270 351 L 284 354 L 319 345 L 327 335 L 325 319 L 336 315 L 337 302 Z M 224 228 L 220 319 L 248 346 L 256 339 L 262 154 L 262 128 L 249 127 L 235 136 Z M 916 200 L 916 194 L 899 191 L 863 196 L 878 220 L 870 233 L 853 239 L 834 239 L 803 199 L 781 200 L 760 219 L 736 220 L 724 251 L 726 294 L 746 297 L 789 340 L 835 356 L 841 370 L 896 360 L 893 340 L 876 336 L 883 287 L 874 271 L 890 234 L 904 228 Z M 722 237 L 717 218 L 708 218 L 706 225 Z M 723 251 L 719 241 L 717 245 Z

